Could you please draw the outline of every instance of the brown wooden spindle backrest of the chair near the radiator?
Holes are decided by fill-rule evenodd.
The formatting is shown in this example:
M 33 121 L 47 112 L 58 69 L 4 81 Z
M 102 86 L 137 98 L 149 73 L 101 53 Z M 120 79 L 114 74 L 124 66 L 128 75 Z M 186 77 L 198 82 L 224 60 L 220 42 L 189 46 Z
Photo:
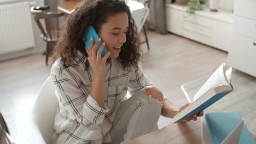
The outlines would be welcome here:
M 48 5 L 45 5 L 44 7 L 31 7 L 30 9 L 45 41 L 53 40 L 53 33 L 51 33 L 49 20 L 56 19 L 56 30 L 58 32 L 56 36 L 59 38 L 59 17 L 65 15 L 63 12 L 46 12 L 46 10 L 49 9 L 50 7 Z M 41 23 L 40 20 L 44 21 L 45 28 L 43 22 Z

